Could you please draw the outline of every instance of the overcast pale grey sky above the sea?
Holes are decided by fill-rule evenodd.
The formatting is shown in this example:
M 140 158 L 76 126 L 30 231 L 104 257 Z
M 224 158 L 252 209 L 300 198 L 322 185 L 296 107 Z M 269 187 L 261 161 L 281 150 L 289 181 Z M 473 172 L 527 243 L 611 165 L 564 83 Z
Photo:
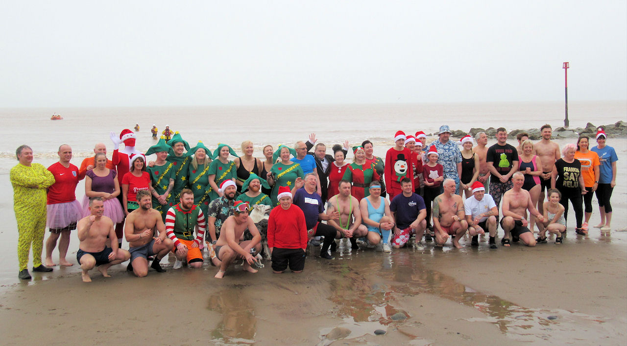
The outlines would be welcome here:
M 627 99 L 621 1 L 4 1 L 0 107 Z

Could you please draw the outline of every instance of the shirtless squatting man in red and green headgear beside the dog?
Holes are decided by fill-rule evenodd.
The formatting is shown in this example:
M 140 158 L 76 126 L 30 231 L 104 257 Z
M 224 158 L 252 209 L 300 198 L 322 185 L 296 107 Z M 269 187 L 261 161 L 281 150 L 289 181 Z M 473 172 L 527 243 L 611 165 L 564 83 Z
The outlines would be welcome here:
M 253 236 L 251 240 L 241 241 L 240 239 L 244 234 L 244 231 L 250 231 Z M 248 218 L 248 203 L 242 201 L 235 201 L 233 204 L 233 215 L 224 220 L 222 227 L 220 228 L 220 236 L 214 249 L 218 260 L 222 261 L 218 273 L 214 278 L 221 279 L 226 273 L 226 268 L 236 258 L 243 258 L 244 270 L 256 273 L 257 270 L 251 267 L 253 263 L 257 261 L 255 255 L 259 253 L 261 249 L 261 234 L 253 223 L 253 219 Z M 254 249 L 251 251 L 251 249 Z

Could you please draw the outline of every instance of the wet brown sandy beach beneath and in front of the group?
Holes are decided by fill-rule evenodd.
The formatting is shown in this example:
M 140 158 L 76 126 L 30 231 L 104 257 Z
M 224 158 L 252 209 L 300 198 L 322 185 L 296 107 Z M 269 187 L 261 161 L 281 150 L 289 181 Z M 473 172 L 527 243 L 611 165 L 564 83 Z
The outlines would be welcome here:
M 332 261 L 309 256 L 300 275 L 232 266 L 217 280 L 213 266 L 175 271 L 174 259 L 166 258 L 167 273 L 150 271 L 142 279 L 124 271 L 124 263 L 112 267 L 111 278 L 92 271 L 90 284 L 82 283 L 77 265 L 18 282 L 9 199 L 0 204 L 7 221 L 0 226 L 4 343 L 624 344 L 627 139 L 608 145 L 619 156 L 611 233 L 592 228 L 576 236 L 573 217 L 561 246 L 554 238 L 535 248 L 497 250 L 486 239 L 470 248 L 467 238 L 461 250 L 427 243 L 391 254 L 351 253 L 342 246 Z M 0 191 L 11 194 L 8 179 L 1 179 Z M 597 209 L 592 220 L 598 221 Z M 74 263 L 77 248 L 73 234 L 68 260 Z M 375 335 L 377 329 L 386 333 Z

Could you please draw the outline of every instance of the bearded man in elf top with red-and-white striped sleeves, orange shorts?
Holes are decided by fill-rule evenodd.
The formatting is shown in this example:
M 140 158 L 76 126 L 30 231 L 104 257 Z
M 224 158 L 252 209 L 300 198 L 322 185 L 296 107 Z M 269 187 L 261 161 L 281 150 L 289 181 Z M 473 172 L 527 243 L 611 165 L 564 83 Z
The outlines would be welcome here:
M 198 226 L 194 239 L 194 228 Z M 174 269 L 179 269 L 185 260 L 191 268 L 203 266 L 203 243 L 206 223 L 201 209 L 194 204 L 194 192 L 190 189 L 181 191 L 180 202 L 171 207 L 166 214 L 166 235 L 174 243 L 176 261 Z

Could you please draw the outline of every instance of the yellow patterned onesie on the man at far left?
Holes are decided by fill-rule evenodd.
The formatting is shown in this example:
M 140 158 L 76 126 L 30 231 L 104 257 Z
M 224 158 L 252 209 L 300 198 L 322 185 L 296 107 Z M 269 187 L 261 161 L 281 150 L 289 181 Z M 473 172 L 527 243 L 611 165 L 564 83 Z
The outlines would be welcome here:
M 17 164 L 11 169 L 13 207 L 18 221 L 19 270 L 28 268 L 28 254 L 33 246 L 33 267 L 41 265 L 43 236 L 46 232 L 46 188 L 55 177 L 41 164 L 30 167 Z

